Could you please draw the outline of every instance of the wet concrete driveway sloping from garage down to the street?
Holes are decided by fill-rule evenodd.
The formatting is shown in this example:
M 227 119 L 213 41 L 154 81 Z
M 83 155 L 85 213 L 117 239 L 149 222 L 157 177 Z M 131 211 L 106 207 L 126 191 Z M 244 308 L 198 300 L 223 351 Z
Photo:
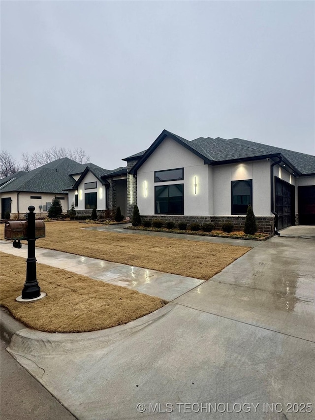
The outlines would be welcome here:
M 146 317 L 9 351 L 78 419 L 314 419 L 314 255 L 274 237 Z

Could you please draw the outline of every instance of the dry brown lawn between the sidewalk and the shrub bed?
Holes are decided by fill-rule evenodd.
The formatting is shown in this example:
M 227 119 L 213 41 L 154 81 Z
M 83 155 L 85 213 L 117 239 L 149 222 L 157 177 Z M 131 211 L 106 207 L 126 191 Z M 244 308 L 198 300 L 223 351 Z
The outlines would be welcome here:
M 202 280 L 213 277 L 251 249 L 186 239 L 82 230 L 89 226 L 95 225 L 48 222 L 46 238 L 37 239 L 36 246 Z

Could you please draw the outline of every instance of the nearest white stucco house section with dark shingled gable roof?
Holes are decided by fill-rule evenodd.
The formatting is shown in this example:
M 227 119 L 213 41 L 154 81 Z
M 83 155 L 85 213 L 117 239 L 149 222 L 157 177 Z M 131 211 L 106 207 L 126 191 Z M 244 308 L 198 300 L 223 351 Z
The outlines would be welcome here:
M 243 229 L 252 205 L 260 231 L 315 225 L 315 157 L 239 138 L 186 140 L 163 130 L 124 159 L 128 208 L 142 219 L 230 221 Z

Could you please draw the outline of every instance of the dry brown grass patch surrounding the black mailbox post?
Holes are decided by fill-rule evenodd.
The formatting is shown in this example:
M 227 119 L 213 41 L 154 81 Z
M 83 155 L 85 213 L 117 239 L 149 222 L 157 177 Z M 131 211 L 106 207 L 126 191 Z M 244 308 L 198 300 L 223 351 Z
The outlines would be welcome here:
M 43 299 L 19 303 L 26 275 L 25 258 L 0 253 L 1 305 L 18 321 L 46 332 L 96 331 L 128 323 L 167 302 L 125 287 L 37 263 Z

